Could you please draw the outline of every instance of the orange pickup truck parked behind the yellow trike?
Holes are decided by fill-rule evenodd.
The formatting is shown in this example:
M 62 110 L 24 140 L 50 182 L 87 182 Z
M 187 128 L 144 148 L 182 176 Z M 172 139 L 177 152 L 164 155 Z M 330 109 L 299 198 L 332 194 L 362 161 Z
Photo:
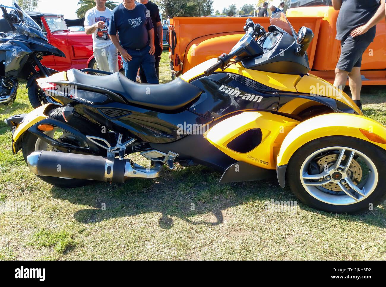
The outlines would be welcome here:
M 338 12 L 331 1 L 291 0 L 286 12 L 297 31 L 301 26 L 313 30 L 308 47 L 311 73 L 330 83 L 340 55 L 340 41 L 335 39 Z M 329 5 L 330 4 L 330 5 Z M 300 6 L 300 7 L 299 7 Z M 267 29 L 269 17 L 251 17 Z M 244 35 L 245 17 L 174 17 L 169 26 L 171 76 L 179 76 L 194 66 L 232 49 Z M 377 24 L 376 37 L 362 57 L 362 84 L 386 84 L 386 24 Z M 226 37 L 223 37 L 226 36 Z

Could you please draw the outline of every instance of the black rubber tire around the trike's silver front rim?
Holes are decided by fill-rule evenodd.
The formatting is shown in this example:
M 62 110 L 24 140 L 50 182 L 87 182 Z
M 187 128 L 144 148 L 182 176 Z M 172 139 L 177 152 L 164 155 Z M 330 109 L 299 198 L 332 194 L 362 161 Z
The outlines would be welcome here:
M 369 157 L 376 165 L 378 171 L 378 183 L 374 191 L 367 198 L 348 205 L 329 204 L 314 198 L 303 187 L 300 180 L 300 169 L 303 162 L 313 152 L 325 147 L 333 146 L 356 149 Z M 332 213 L 362 213 L 369 211 L 369 206 L 375 207 L 386 198 L 386 177 L 384 176 L 384 174 L 386 174 L 385 162 L 386 152 L 370 142 L 344 136 L 323 137 L 306 143 L 292 155 L 287 167 L 286 180 L 296 197 L 308 206 Z

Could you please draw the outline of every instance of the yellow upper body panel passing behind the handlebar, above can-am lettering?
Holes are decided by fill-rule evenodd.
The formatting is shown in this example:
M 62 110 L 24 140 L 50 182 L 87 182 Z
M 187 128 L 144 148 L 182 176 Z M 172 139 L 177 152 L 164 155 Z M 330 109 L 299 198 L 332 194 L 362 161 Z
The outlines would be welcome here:
M 192 79 L 203 75 L 204 71 L 216 62 L 217 59 L 213 58 L 198 64 L 194 68 L 191 68 L 189 71 L 182 74 L 180 78 L 186 82 L 189 82 Z M 221 69 L 217 69 L 216 71 L 220 72 Z M 223 72 L 239 74 L 249 79 L 258 81 L 259 83 L 269 86 L 273 89 L 289 92 L 296 92 L 295 85 L 300 80 L 299 75 L 277 74 L 245 69 L 240 63 L 234 63 L 230 65 Z

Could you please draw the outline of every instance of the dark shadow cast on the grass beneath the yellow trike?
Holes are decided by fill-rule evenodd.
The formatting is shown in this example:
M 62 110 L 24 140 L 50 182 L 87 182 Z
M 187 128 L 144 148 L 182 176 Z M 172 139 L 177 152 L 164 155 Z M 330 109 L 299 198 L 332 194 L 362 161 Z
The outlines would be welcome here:
M 53 187 L 51 192 L 55 198 L 90 206 L 74 214 L 74 219 L 83 224 L 158 212 L 162 214 L 158 225 L 163 229 L 173 227 L 173 217 L 191 225 L 213 226 L 223 223 L 223 211 L 232 206 L 252 204 L 256 212 L 261 213 L 266 202 L 271 199 L 298 201 L 288 188 L 281 189 L 276 179 L 218 184 L 220 176 L 207 167 L 197 166 L 166 171 L 164 177 L 153 181 L 132 179 L 121 185 L 100 183 L 76 189 Z M 312 209 L 305 204 L 298 206 L 304 211 L 320 213 L 334 219 L 360 221 L 385 228 L 383 218 L 386 211 L 382 208 L 375 208 L 366 214 L 337 216 Z M 193 219 L 202 214 L 208 216 L 200 221 Z M 272 216 L 275 214 L 272 213 Z

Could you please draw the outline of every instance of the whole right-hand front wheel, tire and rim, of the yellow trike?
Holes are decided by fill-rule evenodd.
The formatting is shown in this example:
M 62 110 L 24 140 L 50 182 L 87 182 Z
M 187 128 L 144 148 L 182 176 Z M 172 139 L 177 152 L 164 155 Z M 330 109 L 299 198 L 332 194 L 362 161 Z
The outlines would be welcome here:
M 386 197 L 386 152 L 352 137 L 324 137 L 291 157 L 287 181 L 305 204 L 333 213 L 371 210 Z

